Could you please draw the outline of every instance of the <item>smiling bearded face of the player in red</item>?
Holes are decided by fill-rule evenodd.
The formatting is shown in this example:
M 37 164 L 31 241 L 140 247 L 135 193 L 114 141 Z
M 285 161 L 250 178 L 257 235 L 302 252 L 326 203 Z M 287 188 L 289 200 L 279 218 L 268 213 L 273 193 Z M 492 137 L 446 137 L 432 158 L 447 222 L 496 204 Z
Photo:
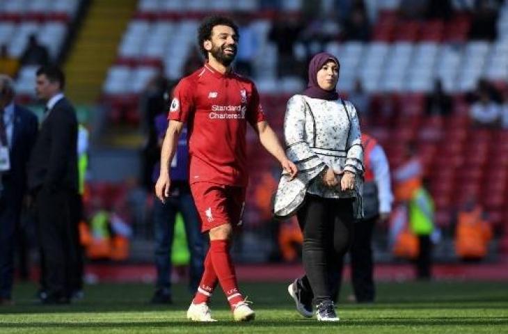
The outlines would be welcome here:
M 224 66 L 229 66 L 237 55 L 238 36 L 230 26 L 218 25 L 212 29 L 212 38 L 203 47 Z

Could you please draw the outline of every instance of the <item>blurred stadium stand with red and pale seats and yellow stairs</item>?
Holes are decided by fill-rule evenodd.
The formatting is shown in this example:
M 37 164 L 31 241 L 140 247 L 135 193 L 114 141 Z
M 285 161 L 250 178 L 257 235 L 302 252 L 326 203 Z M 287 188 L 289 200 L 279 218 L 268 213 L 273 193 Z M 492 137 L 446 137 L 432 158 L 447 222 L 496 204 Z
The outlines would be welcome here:
M 86 18 L 95 20 L 95 26 L 88 31 L 93 38 L 78 35 L 71 49 L 75 55 L 71 54 L 65 63 L 70 81 L 81 78 L 88 86 L 76 84 L 69 94 L 88 103 L 95 102 L 96 95 L 100 94 L 111 128 L 127 122 L 138 129 L 142 118 L 140 97 L 148 82 L 159 73 L 168 79 L 180 79 L 189 59 L 196 60 L 199 20 L 210 13 L 233 16 L 248 13 L 248 26 L 257 37 L 251 64 L 253 79 L 262 93 L 269 122 L 280 134 L 285 104 L 305 86 L 306 79 L 300 73 L 278 76 L 280 58 L 270 31 L 280 13 L 299 19 L 305 4 L 303 0 L 281 0 L 280 7 L 276 8 L 271 2 L 139 0 L 136 5 L 136 1 L 129 1 L 132 8 L 124 8 L 122 22 L 116 22 L 111 29 L 115 31 L 109 31 L 111 38 L 107 45 L 90 51 L 90 47 L 97 45 L 93 38 L 100 35 L 109 19 L 107 13 L 118 6 L 118 3 L 109 7 L 102 3 L 106 8 L 100 15 L 94 16 L 94 12 Z M 474 1 L 451 1 L 454 11 L 449 19 L 404 17 L 399 0 L 364 2 L 371 22 L 370 40 L 349 40 L 339 35 L 323 44 L 326 51 L 340 59 L 340 93 L 347 98 L 354 93 L 358 81 L 363 86 L 371 106 L 363 128 L 386 148 L 392 168 L 402 162 L 402 148 L 406 143 L 416 144 L 426 174 L 431 177 L 436 219 L 443 230 L 452 231 L 456 208 L 466 196 L 474 195 L 489 213 L 498 236 L 505 240 L 501 243 L 508 245 L 505 205 L 508 202 L 508 132 L 498 127 L 473 125 L 468 100 L 480 79 L 486 79 L 500 92 L 508 90 L 508 1 L 498 10 L 494 40 L 470 38 L 474 22 L 470 8 Z M 49 50 L 51 60 L 59 60 L 81 3 L 80 0 L 0 0 L 0 45 L 7 45 L 9 54 L 19 57 L 28 36 L 35 33 Z M 88 28 L 82 28 L 80 33 Z M 81 45 L 81 41 L 88 45 Z M 101 53 L 97 50 L 103 52 L 98 58 L 90 58 L 84 54 L 85 49 L 95 54 Z M 296 58 L 305 61 L 308 56 L 305 42 L 298 39 L 295 49 Z M 79 54 L 90 59 L 87 62 L 74 58 Z M 94 59 L 97 66 L 90 65 Z M 94 70 L 89 70 L 92 67 Z M 33 65 L 23 66 L 16 77 L 17 92 L 27 101 L 33 99 L 35 70 Z M 445 92 L 452 97 L 450 116 L 426 113 L 427 94 L 434 88 L 436 79 L 440 79 Z M 386 104 L 389 104 L 386 110 L 391 111 L 385 114 L 381 107 Z M 246 234 L 255 230 L 266 209 L 254 200 L 256 185 L 265 184 L 260 180 L 266 180 L 267 174 L 278 177 L 278 166 L 260 149 L 252 132 L 248 140 L 253 163 Z M 125 198 L 127 187 L 94 182 L 89 190 L 90 198 L 100 198 L 106 207 L 111 207 L 118 198 Z M 261 245 L 260 242 L 257 247 Z M 502 249 L 508 252 L 508 246 Z

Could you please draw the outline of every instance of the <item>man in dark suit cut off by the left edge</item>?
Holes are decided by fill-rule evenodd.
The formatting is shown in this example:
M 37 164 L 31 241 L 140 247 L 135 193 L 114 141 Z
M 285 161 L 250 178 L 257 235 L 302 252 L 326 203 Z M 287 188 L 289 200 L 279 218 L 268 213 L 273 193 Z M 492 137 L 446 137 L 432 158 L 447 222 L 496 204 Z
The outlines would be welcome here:
M 12 303 L 15 234 L 38 128 L 35 115 L 15 104 L 14 95 L 13 80 L 0 74 L 0 305 Z

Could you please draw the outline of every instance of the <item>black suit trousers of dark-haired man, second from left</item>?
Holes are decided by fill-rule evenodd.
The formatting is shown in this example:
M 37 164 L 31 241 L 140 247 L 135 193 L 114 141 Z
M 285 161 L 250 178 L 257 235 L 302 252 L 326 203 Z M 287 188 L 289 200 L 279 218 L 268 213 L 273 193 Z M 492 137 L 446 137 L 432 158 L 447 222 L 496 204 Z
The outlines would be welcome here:
M 76 250 L 70 201 L 73 191 L 40 189 L 35 195 L 38 241 L 42 260 L 42 286 L 49 298 L 70 298 Z

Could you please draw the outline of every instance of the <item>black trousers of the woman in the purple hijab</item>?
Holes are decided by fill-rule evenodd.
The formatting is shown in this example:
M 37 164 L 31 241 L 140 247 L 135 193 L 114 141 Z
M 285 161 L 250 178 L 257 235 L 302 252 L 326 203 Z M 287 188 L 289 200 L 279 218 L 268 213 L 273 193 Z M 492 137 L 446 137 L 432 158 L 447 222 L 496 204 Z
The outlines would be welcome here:
M 331 300 L 340 260 L 351 244 L 353 200 L 307 195 L 297 213 L 303 232 L 303 267 L 300 282 L 311 289 L 313 303 Z

